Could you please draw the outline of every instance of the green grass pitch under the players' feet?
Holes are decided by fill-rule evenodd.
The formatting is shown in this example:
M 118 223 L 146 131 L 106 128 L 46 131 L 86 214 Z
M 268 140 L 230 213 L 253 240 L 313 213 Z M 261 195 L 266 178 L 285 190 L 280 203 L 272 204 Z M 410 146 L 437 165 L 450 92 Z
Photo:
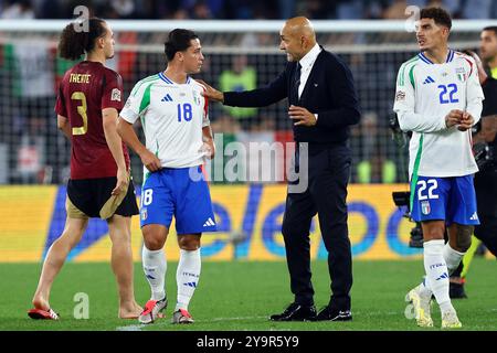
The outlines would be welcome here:
M 117 319 L 117 290 L 109 264 L 66 264 L 52 289 L 51 303 L 60 321 L 35 321 L 27 315 L 38 282 L 39 264 L 0 264 L 0 330 L 421 330 L 405 318 L 406 291 L 423 275 L 422 260 L 355 260 L 352 322 L 271 322 L 267 317 L 282 311 L 290 301 L 286 264 L 204 261 L 197 292 L 190 303 L 195 319 L 192 325 L 172 325 L 170 317 L 176 302 L 176 266 L 168 264 L 169 307 L 166 318 L 150 325 L 136 320 Z M 468 275 L 468 299 L 455 300 L 463 330 L 497 330 L 497 263 L 476 258 Z M 318 309 L 329 299 L 329 278 L 325 261 L 313 263 L 313 282 Z M 135 267 L 135 291 L 139 303 L 149 296 L 140 264 Z M 73 311 L 78 292 L 88 295 L 89 319 L 76 320 Z M 440 311 L 434 306 L 435 328 L 440 330 Z

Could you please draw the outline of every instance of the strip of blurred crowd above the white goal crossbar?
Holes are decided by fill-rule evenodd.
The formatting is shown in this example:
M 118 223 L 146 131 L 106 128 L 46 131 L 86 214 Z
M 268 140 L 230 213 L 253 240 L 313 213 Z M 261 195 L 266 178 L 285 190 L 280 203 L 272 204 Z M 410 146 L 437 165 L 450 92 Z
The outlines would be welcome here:
M 0 0 L 2 19 L 67 19 L 77 6 L 105 19 L 403 19 L 408 6 L 441 6 L 454 19 L 493 19 L 493 0 Z

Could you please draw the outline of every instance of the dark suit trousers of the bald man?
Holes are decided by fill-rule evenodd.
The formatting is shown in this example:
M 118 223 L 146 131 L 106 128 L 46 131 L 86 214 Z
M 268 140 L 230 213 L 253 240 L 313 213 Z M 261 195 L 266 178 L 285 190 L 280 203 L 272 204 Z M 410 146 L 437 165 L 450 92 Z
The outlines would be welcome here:
M 287 193 L 282 233 L 292 292 L 300 304 L 314 303 L 309 228 L 317 213 L 328 250 L 332 292 L 329 303 L 337 309 L 350 309 L 352 256 L 346 204 L 350 164 L 350 150 L 346 146 L 337 145 L 318 151 L 313 151 L 313 146 L 309 146 L 308 188 L 302 193 Z

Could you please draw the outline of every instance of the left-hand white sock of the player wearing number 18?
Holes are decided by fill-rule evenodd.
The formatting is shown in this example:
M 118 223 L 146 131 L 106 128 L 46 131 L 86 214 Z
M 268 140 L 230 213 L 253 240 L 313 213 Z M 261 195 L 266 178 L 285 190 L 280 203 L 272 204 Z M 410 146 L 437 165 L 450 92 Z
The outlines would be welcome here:
M 167 270 L 166 254 L 163 249 L 149 250 L 144 244 L 141 261 L 145 277 L 150 285 L 151 299 L 161 300 L 166 297 L 165 278 Z

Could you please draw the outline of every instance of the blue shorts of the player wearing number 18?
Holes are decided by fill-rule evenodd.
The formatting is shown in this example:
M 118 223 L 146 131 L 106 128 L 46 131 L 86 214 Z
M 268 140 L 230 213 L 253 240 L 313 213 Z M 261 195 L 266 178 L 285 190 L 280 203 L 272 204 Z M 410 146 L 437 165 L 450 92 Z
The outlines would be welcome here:
M 216 231 L 201 167 L 163 168 L 146 179 L 141 189 L 140 226 L 162 224 L 169 228 L 172 216 L 179 235 Z

